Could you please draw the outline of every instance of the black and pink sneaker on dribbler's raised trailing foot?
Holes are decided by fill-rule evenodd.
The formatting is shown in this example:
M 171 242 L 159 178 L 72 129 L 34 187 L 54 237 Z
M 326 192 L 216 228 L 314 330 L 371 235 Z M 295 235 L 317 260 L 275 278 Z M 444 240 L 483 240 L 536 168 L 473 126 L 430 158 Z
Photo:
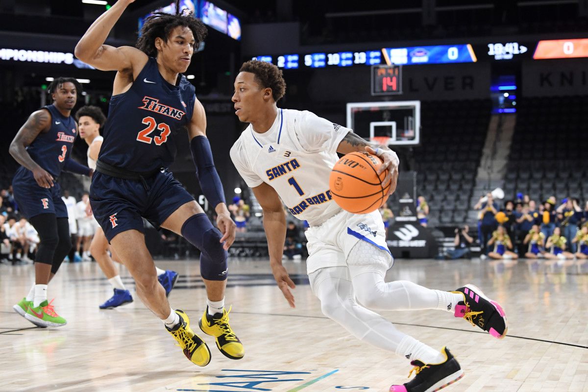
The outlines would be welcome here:
M 455 306 L 455 317 L 462 317 L 473 326 L 488 331 L 496 339 L 503 339 L 509 329 L 506 313 L 496 302 L 484 295 L 473 284 L 466 284 L 452 293 L 463 294 L 463 301 Z

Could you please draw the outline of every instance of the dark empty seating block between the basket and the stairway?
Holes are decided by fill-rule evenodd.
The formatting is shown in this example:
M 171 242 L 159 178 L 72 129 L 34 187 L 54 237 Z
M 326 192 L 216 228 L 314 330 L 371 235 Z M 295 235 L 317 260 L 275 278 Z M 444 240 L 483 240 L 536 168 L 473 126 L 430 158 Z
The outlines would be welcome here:
M 432 226 L 465 222 L 490 120 L 490 100 L 423 101 L 422 144 L 414 149 L 417 195 Z

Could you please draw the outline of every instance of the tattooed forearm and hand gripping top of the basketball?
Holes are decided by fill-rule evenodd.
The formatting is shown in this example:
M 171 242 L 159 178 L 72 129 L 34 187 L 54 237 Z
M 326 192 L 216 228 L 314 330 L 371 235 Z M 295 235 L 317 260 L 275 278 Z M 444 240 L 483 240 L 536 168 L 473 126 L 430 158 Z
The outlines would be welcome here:
M 382 181 L 382 186 L 388 186 L 391 182 L 390 189 L 387 195 L 392 195 L 396 190 L 396 183 L 398 181 L 398 165 L 400 160 L 395 152 L 387 148 L 386 146 L 375 146 L 372 143 L 366 142 L 363 138 L 360 138 L 353 132 L 348 132 L 345 138 L 341 140 L 337 148 L 337 152 L 340 154 L 349 154 L 350 152 L 369 152 L 370 154 L 377 155 L 382 158 L 383 163 L 377 170 L 377 174 L 380 175 L 384 170 L 388 169 L 388 175 Z

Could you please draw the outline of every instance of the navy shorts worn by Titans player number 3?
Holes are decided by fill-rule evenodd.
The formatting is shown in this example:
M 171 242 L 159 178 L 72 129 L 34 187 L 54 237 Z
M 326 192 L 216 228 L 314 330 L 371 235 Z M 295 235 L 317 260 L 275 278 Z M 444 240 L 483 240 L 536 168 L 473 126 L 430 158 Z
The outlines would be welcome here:
M 64 200 L 61 199 L 61 187 L 54 180 L 54 186 L 44 188 L 39 186 L 31 170 L 19 167 L 12 179 L 14 199 L 18 205 L 19 212 L 31 219 L 41 214 L 55 214 L 55 217 L 68 217 L 68 209 Z

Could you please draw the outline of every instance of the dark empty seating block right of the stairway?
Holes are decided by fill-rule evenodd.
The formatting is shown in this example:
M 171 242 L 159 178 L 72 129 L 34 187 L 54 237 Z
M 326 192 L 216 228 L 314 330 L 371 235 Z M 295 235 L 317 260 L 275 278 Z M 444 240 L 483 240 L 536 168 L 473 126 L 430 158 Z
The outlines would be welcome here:
M 505 197 L 588 198 L 588 96 L 522 98 L 505 176 Z

